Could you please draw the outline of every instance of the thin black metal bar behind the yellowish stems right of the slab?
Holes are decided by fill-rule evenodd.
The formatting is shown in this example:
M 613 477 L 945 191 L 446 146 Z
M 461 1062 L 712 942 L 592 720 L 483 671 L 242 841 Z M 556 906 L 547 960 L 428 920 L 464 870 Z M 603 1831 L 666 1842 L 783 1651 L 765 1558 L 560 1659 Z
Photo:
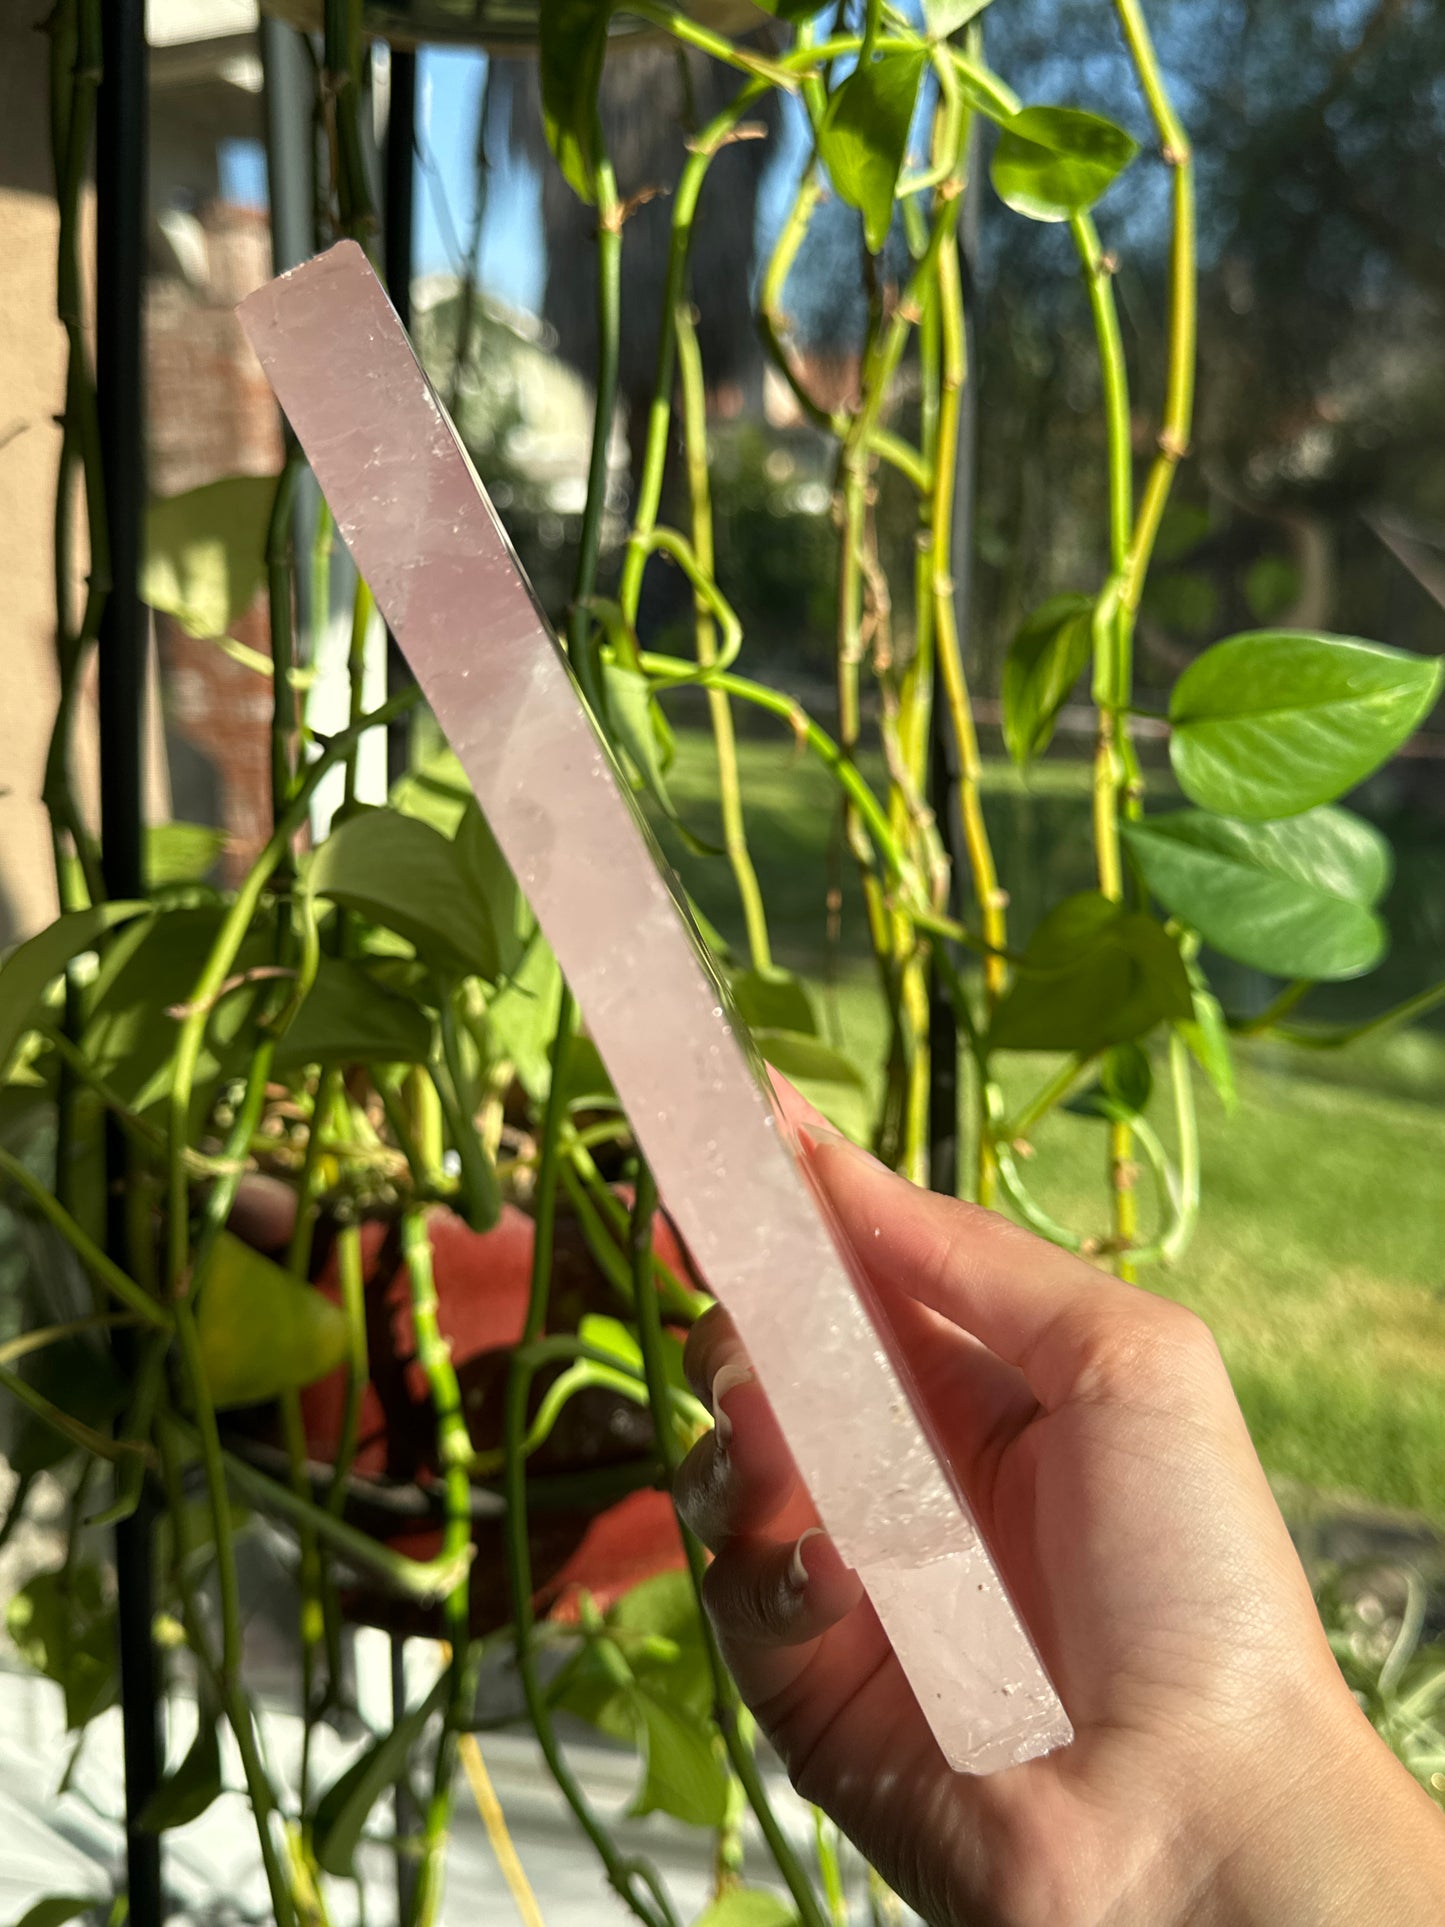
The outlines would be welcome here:
M 967 185 L 963 216 L 958 231 L 959 274 L 963 279 L 963 393 L 958 416 L 958 453 L 954 468 L 954 611 L 958 646 L 967 655 L 969 594 L 973 586 L 973 505 L 977 493 L 979 457 L 979 314 L 973 262 L 979 254 L 979 129 L 969 135 Z M 963 829 L 958 815 L 958 742 L 948 719 L 948 705 L 934 701 L 931 715 L 929 807 L 938 825 L 938 836 L 948 854 L 948 910 L 958 915 L 963 892 L 959 888 L 958 858 L 963 848 Z M 929 1187 L 948 1197 L 958 1195 L 958 1012 L 948 981 L 936 967 L 929 971 Z

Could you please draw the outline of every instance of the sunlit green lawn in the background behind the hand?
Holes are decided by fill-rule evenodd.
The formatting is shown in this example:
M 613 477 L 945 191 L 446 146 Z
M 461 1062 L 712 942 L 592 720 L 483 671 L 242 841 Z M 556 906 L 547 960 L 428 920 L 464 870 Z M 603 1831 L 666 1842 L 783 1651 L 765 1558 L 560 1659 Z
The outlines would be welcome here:
M 857 892 L 830 856 L 828 780 L 778 738 L 748 740 L 742 755 L 778 958 L 825 985 L 834 1035 L 873 1064 L 882 1010 Z M 1069 767 L 1040 777 L 1023 790 L 1012 771 L 990 771 L 1015 908 L 1089 881 L 1085 777 Z M 688 823 L 715 836 L 707 738 L 682 732 L 670 784 Z M 670 848 L 736 940 L 726 863 Z M 832 960 L 830 875 L 844 883 Z M 1021 911 L 1019 925 L 1029 921 Z M 1023 1093 L 1048 1069 L 1044 1058 L 1019 1060 L 1010 1083 Z M 1412 1031 L 1331 1056 L 1254 1044 L 1241 1052 L 1239 1083 L 1233 1118 L 1200 1089 L 1200 1229 L 1177 1272 L 1154 1270 L 1148 1283 L 1214 1328 L 1274 1474 L 1445 1520 L 1445 1037 Z M 850 1127 L 863 1122 L 863 1102 L 842 1110 Z M 1029 1177 L 1056 1216 L 1102 1229 L 1102 1174 L 1098 1123 L 1056 1116 L 1040 1129 Z

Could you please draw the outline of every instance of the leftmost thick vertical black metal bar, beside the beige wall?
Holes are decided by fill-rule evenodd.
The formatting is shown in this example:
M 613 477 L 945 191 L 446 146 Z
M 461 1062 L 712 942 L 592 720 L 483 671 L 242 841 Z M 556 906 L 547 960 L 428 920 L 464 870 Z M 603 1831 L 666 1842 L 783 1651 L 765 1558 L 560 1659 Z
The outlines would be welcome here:
M 110 896 L 144 890 L 144 688 L 150 624 L 141 603 L 141 532 L 146 501 L 143 291 L 146 249 L 146 37 L 144 0 L 106 0 L 96 96 L 96 403 L 110 530 L 110 595 L 98 638 L 100 867 Z M 106 1137 L 106 1239 L 129 1260 L 125 1143 Z M 118 1333 L 123 1370 L 135 1351 Z M 154 1499 L 116 1528 L 118 1646 L 125 1759 L 129 1921 L 160 1927 L 160 1838 L 139 1815 L 160 1782 L 160 1671 L 152 1640 Z

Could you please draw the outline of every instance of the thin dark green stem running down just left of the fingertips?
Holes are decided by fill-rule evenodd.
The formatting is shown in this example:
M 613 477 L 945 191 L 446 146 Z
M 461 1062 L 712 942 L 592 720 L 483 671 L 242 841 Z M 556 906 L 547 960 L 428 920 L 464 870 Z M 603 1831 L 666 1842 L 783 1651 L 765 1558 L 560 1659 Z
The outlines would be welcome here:
M 663 1465 L 669 1472 L 676 1472 L 682 1459 L 672 1422 L 670 1422 L 670 1391 L 667 1384 L 667 1372 L 663 1366 L 663 1308 L 653 1287 L 653 1218 L 657 1214 L 657 1185 L 653 1183 L 651 1170 L 638 1158 L 638 1177 L 636 1177 L 636 1202 L 632 1206 L 632 1289 L 636 1295 L 636 1318 L 638 1318 L 638 1343 L 642 1345 L 644 1368 L 647 1374 L 647 1393 L 651 1399 L 653 1426 L 657 1432 L 657 1451 L 663 1457 Z M 763 1786 L 763 1775 L 757 1771 L 757 1759 L 749 1746 L 744 1744 L 738 1730 L 738 1711 L 740 1698 L 738 1688 L 722 1665 L 722 1655 L 719 1653 L 717 1640 L 713 1636 L 711 1621 L 707 1619 L 707 1609 L 703 1605 L 701 1584 L 705 1571 L 705 1555 L 697 1540 L 688 1532 L 686 1524 L 678 1520 L 678 1530 L 682 1532 L 682 1544 L 688 1551 L 688 1572 L 692 1576 L 694 1594 L 697 1597 L 697 1619 L 703 1634 L 703 1646 L 707 1648 L 707 1663 L 713 1673 L 713 1717 L 717 1719 L 719 1732 L 722 1734 L 722 1744 L 728 1750 L 728 1759 L 732 1761 L 732 1771 L 742 1782 L 748 1804 L 753 1809 L 759 1831 L 767 1840 L 767 1848 L 782 1875 L 788 1892 L 798 1908 L 798 1919 L 801 1927 L 828 1927 L 825 1910 L 819 1906 L 819 1898 L 813 1892 L 813 1883 L 803 1873 L 803 1867 L 792 1848 L 792 1840 L 782 1831 L 776 1813 L 767 1798 L 767 1788 Z

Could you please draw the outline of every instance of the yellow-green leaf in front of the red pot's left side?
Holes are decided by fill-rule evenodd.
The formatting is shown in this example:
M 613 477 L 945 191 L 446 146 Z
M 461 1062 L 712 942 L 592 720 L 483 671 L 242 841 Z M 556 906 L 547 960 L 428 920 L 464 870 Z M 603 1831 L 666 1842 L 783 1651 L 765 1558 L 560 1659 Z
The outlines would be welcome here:
M 341 1307 L 229 1231 L 195 1289 L 200 1360 L 222 1409 L 297 1391 L 347 1357 Z

